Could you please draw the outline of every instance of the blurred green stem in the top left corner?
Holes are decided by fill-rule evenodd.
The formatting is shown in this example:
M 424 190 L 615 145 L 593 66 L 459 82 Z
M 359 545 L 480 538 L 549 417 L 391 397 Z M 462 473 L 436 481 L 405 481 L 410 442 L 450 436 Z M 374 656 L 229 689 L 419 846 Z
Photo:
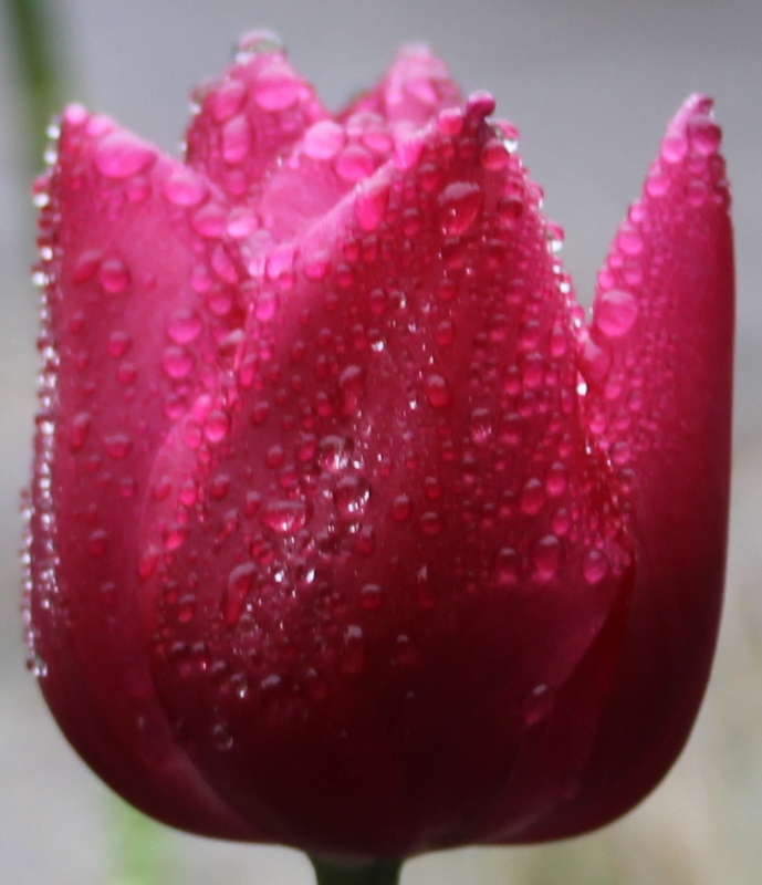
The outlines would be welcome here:
M 2 0 L 27 114 L 28 144 L 36 167 L 45 129 L 61 103 L 63 73 L 56 52 L 59 29 L 49 0 Z

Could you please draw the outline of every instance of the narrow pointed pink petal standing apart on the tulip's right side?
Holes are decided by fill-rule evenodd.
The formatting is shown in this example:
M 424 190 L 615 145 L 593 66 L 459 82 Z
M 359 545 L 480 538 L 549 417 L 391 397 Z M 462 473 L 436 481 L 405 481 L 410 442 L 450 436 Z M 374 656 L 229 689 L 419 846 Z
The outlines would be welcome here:
M 733 252 L 711 102 L 679 111 L 599 275 L 586 412 L 629 500 L 636 584 L 613 696 L 559 837 L 623 813 L 679 753 L 703 695 L 724 570 Z

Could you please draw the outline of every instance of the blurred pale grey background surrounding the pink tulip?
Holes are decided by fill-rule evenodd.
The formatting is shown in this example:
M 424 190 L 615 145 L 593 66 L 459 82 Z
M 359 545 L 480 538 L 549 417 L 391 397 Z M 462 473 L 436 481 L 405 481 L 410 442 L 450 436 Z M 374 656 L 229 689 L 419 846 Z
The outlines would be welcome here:
M 34 412 L 36 293 L 29 180 L 40 140 L 0 4 L 0 885 L 309 885 L 296 852 L 192 839 L 125 809 L 81 763 L 24 670 L 19 493 Z M 762 870 L 762 3 L 759 0 L 48 0 L 61 101 L 80 100 L 177 153 L 190 87 L 268 27 L 330 106 L 425 40 L 468 92 L 488 88 L 566 230 L 580 296 L 667 121 L 717 100 L 734 192 L 739 327 L 728 600 L 698 726 L 666 782 L 625 820 L 543 848 L 410 862 L 404 885 L 753 885 Z M 39 114 L 38 114 L 39 118 Z M 34 124 L 39 127 L 39 123 Z

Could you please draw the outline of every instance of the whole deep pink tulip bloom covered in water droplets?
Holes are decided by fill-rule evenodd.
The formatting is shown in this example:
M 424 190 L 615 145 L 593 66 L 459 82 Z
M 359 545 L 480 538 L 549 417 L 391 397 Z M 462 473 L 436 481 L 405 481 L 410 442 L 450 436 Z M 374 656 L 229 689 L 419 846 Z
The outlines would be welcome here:
M 258 32 L 194 97 L 184 162 L 70 106 L 36 187 L 27 620 L 63 732 L 321 882 L 612 821 L 680 752 L 720 611 L 711 101 L 588 321 L 516 131 L 425 48 L 331 116 Z

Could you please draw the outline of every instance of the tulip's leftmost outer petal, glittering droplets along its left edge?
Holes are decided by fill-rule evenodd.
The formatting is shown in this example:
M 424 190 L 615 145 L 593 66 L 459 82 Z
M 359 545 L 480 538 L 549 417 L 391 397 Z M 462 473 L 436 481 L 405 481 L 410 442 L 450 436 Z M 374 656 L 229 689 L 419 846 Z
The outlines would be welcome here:
M 176 826 L 253 837 L 175 742 L 137 610 L 148 471 L 169 416 L 201 383 L 205 353 L 217 351 L 213 329 L 225 327 L 189 284 L 205 256 L 189 214 L 208 187 L 81 107 L 65 113 L 58 149 L 40 220 L 48 306 L 30 527 L 34 666 L 67 738 L 125 798 Z

